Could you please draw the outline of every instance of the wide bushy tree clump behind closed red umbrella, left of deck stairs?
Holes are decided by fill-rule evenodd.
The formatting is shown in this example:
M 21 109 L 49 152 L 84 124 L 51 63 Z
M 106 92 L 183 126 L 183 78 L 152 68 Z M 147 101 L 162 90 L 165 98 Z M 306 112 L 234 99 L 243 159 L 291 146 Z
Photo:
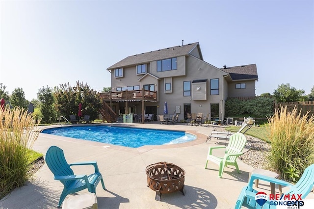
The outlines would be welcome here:
M 90 88 L 86 83 L 77 81 L 77 85 L 71 87 L 69 83 L 60 84 L 54 88 L 55 105 L 61 116 L 70 119 L 70 115 L 78 115 L 78 104 L 82 104 L 82 114 L 90 115 L 91 120 L 98 118 L 101 107 L 99 92 Z

